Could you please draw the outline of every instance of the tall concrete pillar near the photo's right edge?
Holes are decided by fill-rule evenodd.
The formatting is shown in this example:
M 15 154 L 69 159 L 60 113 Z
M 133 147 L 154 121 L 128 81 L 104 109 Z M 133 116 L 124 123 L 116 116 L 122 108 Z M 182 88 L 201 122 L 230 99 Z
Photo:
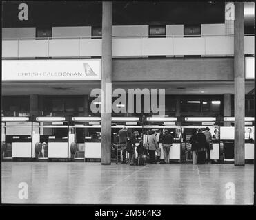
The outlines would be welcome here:
M 235 166 L 244 166 L 244 2 L 235 2 Z

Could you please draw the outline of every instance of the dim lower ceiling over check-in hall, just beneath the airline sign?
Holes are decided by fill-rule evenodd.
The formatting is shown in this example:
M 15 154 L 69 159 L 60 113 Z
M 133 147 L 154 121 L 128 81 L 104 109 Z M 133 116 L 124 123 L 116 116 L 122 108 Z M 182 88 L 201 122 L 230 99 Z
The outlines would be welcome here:
M 83 95 L 90 94 L 95 88 L 100 88 L 99 82 L 68 82 L 68 83 L 42 83 L 42 82 L 18 82 L 2 83 L 2 95 Z M 210 81 L 210 82 L 115 82 L 112 88 L 128 89 L 166 89 L 166 94 L 234 94 L 234 82 Z M 246 81 L 245 91 L 248 94 L 254 89 L 254 80 Z

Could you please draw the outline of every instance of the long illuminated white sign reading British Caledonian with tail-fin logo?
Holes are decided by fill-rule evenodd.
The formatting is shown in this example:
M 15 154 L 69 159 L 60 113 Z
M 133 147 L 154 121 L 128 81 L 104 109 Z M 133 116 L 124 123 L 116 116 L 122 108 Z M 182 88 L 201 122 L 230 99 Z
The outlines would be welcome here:
M 101 60 L 2 60 L 2 81 L 101 80 Z

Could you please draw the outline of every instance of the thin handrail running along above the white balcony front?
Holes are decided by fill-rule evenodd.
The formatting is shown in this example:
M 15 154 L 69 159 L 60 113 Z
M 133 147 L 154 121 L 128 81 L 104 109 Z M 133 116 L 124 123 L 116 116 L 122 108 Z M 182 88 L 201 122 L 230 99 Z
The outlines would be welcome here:
M 234 34 L 191 34 L 191 35 L 184 35 L 184 34 L 172 34 L 172 35 L 127 35 L 127 36 L 112 36 L 112 38 L 151 38 L 151 37 L 190 37 L 190 36 L 234 36 Z M 255 34 L 244 34 L 244 36 L 255 36 Z M 3 38 L 2 41 L 5 40 L 54 40 L 54 39 L 101 39 L 101 36 L 54 36 L 54 37 L 21 37 L 21 38 Z

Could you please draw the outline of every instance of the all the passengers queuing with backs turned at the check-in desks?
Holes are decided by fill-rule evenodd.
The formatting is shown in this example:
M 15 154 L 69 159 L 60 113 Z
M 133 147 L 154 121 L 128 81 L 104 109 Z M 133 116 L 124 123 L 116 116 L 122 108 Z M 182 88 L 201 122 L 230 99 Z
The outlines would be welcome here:
M 170 164 L 170 148 L 173 146 L 174 139 L 168 129 L 164 130 L 164 133 L 161 133 L 161 131 L 156 133 L 155 130 L 146 131 L 146 135 L 143 136 L 143 140 L 139 141 L 139 146 L 137 146 L 136 149 L 135 143 L 138 136 L 138 131 L 130 132 L 126 127 L 118 132 L 119 144 L 125 145 L 124 155 L 126 154 L 126 151 L 128 151 L 128 163 L 130 165 L 144 165 L 146 159 L 148 159 L 150 164 Z M 189 140 L 193 164 L 206 164 L 211 162 L 210 150 L 212 149 L 213 139 L 214 137 L 210 133 L 210 129 L 208 127 L 206 127 L 204 131 L 201 129 L 193 129 Z M 162 144 L 162 148 L 160 148 L 159 143 Z M 137 158 L 135 158 L 135 151 L 138 153 Z M 161 162 L 160 160 L 161 153 L 164 155 L 164 162 Z

